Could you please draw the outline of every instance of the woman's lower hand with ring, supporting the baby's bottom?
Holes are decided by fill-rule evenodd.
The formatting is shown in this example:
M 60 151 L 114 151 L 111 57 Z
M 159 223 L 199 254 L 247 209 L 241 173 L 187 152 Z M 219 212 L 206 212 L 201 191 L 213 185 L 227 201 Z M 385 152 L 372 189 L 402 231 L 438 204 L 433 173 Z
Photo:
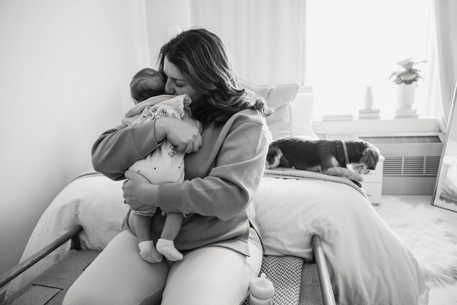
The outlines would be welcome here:
M 126 171 L 125 177 L 128 180 L 124 181 L 122 191 L 125 203 L 130 206 L 130 209 L 147 212 L 159 206 L 158 185 L 150 184 L 149 180 L 132 170 Z

